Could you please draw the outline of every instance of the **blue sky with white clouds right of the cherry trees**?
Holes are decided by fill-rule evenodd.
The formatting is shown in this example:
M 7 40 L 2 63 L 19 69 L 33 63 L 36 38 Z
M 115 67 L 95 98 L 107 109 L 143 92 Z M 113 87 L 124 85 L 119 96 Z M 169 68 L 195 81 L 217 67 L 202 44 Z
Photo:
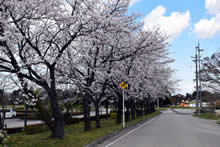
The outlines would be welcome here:
M 131 0 L 129 12 L 142 15 L 144 28 L 155 25 L 170 36 L 170 56 L 176 61 L 175 78 L 181 80 L 177 93 L 191 93 L 195 65 L 191 56 L 198 41 L 209 56 L 220 49 L 220 0 Z

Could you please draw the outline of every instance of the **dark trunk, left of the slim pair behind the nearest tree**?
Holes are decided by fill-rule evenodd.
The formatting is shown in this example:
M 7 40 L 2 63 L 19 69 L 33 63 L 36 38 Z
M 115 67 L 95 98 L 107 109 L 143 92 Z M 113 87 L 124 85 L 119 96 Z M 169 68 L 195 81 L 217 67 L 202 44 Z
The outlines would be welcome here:
M 84 130 L 88 131 L 91 129 L 88 94 L 86 94 L 83 98 L 83 114 L 84 114 Z

